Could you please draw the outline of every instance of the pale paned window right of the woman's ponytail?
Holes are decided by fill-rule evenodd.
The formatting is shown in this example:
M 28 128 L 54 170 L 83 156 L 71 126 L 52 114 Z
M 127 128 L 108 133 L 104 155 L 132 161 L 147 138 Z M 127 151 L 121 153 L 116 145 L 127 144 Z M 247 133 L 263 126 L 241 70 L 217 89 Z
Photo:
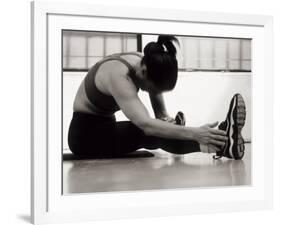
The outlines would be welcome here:
M 178 37 L 182 71 L 251 71 L 251 40 L 213 37 Z

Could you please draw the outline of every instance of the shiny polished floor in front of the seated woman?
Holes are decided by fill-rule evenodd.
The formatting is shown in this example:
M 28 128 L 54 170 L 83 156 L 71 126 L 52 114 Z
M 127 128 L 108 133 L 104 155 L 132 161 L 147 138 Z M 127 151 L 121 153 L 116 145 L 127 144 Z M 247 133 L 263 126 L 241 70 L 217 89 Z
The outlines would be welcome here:
M 159 190 L 251 184 L 251 144 L 243 160 L 213 160 L 204 153 L 172 155 L 152 151 L 151 158 L 67 160 L 63 193 Z

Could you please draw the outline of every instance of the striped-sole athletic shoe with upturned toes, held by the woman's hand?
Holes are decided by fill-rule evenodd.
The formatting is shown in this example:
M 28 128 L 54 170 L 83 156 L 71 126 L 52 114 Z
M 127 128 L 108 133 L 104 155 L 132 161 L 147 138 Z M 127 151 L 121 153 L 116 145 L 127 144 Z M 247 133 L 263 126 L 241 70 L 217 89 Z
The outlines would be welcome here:
M 241 130 L 245 125 L 246 106 L 243 97 L 240 94 L 235 94 L 231 99 L 226 120 L 219 124 L 219 129 L 226 131 L 228 140 L 222 147 L 221 151 L 217 152 L 214 159 L 219 159 L 222 156 L 231 159 L 242 159 L 244 156 L 244 139 Z

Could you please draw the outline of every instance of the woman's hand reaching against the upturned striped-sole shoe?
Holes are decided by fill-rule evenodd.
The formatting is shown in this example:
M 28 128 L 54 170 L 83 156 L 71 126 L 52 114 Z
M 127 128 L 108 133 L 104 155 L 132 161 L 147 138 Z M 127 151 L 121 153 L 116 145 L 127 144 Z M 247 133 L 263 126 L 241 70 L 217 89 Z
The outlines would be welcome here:
M 214 129 L 217 125 L 218 122 L 215 122 L 195 128 L 195 141 L 203 145 L 224 146 L 228 138 L 226 137 L 225 131 Z

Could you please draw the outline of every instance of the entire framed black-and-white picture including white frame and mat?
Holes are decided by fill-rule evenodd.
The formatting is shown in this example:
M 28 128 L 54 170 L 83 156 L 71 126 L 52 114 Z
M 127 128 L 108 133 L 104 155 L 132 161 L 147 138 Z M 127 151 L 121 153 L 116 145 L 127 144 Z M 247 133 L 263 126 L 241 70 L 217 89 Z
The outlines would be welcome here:
M 30 9 L 32 223 L 272 208 L 272 16 Z

